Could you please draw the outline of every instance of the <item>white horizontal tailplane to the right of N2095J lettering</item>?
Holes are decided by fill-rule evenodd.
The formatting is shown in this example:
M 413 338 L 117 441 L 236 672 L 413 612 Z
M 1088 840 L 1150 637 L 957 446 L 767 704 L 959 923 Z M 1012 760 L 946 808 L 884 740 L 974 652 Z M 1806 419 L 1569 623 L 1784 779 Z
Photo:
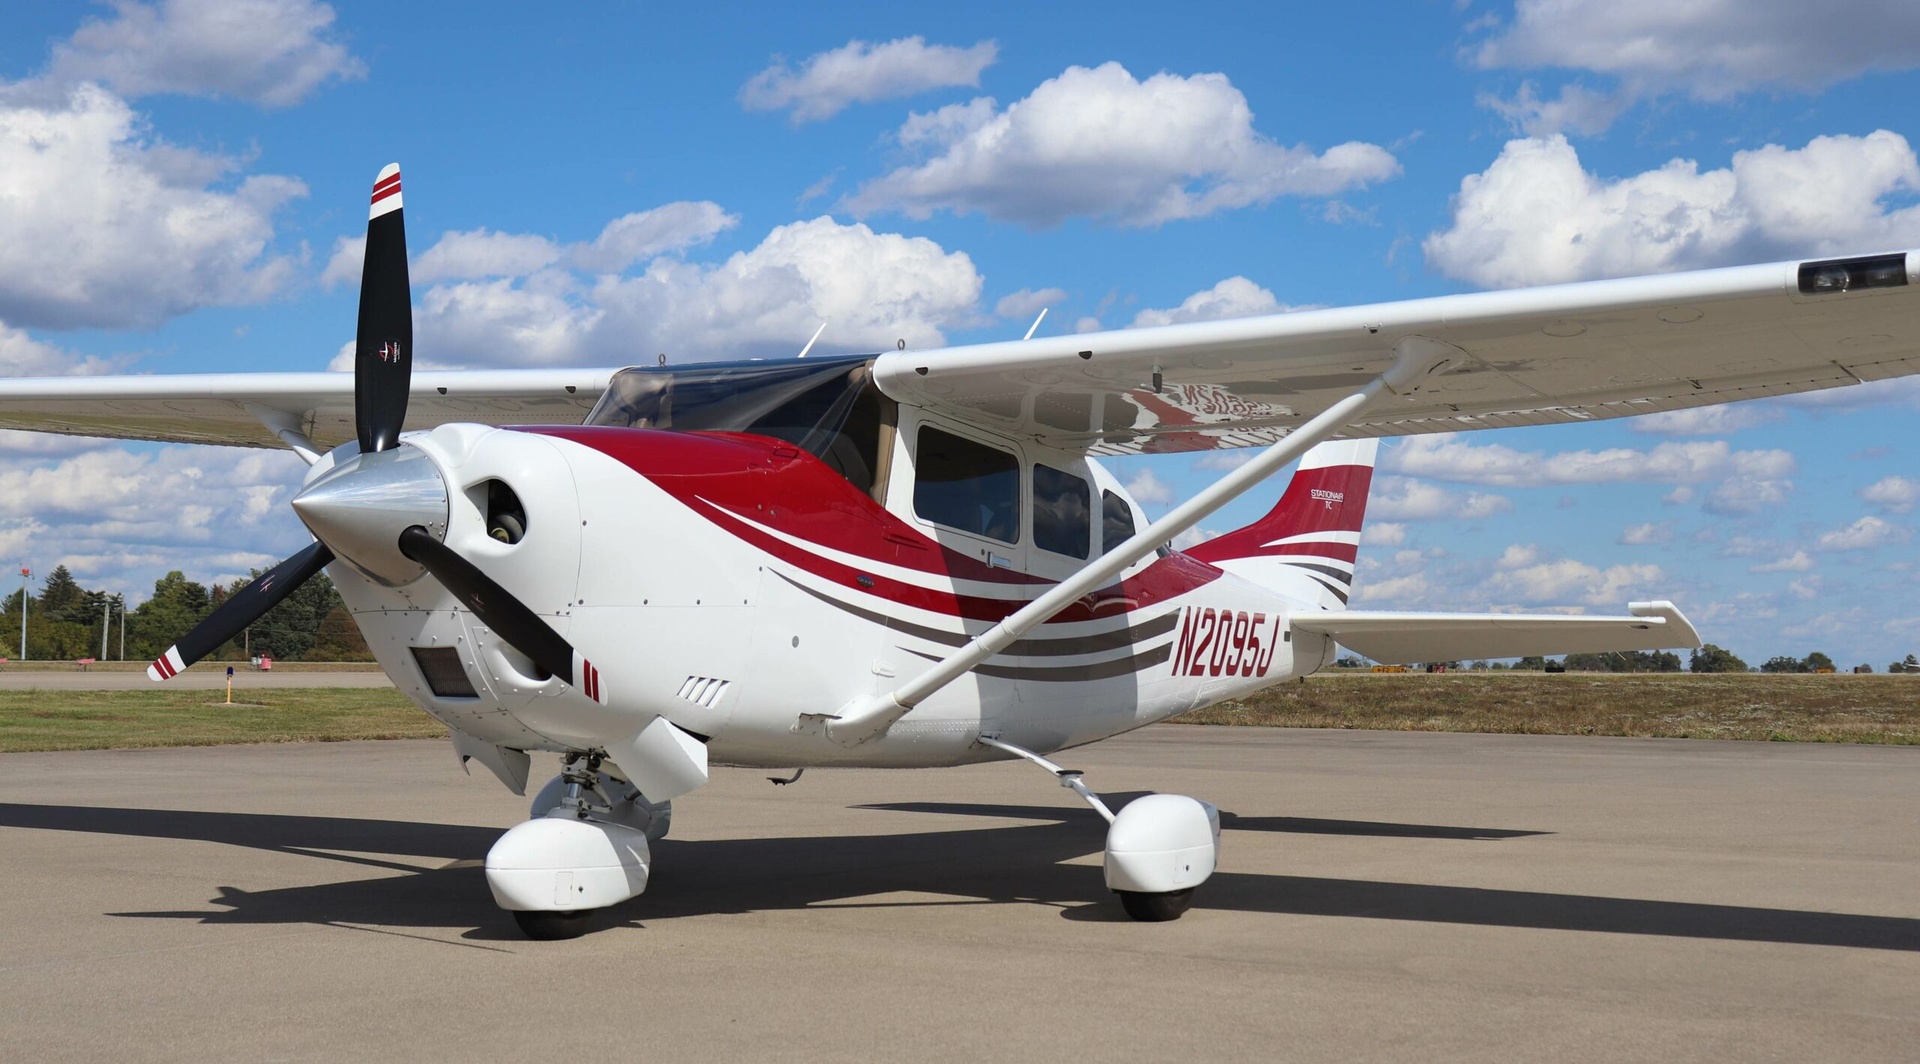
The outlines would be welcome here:
M 1699 634 L 1674 603 L 1628 603 L 1626 613 L 1630 617 L 1336 609 L 1294 615 L 1290 622 L 1298 632 L 1331 636 L 1350 651 L 1390 665 L 1699 645 Z

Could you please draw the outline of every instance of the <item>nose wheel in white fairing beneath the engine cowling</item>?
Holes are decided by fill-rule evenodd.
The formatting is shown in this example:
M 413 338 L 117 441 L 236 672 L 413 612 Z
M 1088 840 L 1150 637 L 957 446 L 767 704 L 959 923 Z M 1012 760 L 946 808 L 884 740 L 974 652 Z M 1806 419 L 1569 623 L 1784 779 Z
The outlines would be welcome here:
M 534 797 L 534 818 L 486 855 L 493 901 L 530 939 L 580 937 L 595 908 L 647 889 L 647 843 L 666 835 L 672 803 L 649 803 L 603 762 L 599 751 L 566 755 Z

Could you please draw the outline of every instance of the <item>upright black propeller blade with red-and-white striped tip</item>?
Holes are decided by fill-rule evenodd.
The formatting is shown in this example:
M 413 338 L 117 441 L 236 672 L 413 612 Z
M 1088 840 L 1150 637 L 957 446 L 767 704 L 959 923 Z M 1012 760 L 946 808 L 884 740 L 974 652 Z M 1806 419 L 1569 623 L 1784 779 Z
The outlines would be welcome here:
M 361 453 L 394 447 L 407 421 L 413 382 L 413 294 L 407 288 L 407 227 L 399 209 L 399 163 L 372 182 L 361 317 L 353 348 L 353 423 Z

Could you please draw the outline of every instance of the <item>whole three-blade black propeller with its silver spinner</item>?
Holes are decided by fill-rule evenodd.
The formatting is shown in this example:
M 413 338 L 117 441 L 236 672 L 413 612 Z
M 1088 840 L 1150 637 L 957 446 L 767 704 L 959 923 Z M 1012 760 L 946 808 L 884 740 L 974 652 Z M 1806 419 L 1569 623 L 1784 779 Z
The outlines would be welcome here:
M 296 511 L 319 542 L 275 565 L 238 590 L 213 613 L 159 655 L 146 674 L 169 680 L 259 620 L 338 551 L 349 559 L 397 549 L 426 568 L 499 638 L 540 668 L 578 686 L 593 701 L 607 701 L 599 670 L 511 592 L 447 547 L 420 524 L 394 536 L 394 486 L 413 486 L 405 455 L 382 455 L 399 446 L 413 380 L 413 296 L 407 278 L 407 230 L 399 198 L 399 163 L 388 163 L 372 184 L 367 211 L 367 259 L 361 269 L 359 328 L 353 346 L 353 426 L 359 455 L 348 455 L 296 497 Z M 407 455 L 422 457 L 417 451 Z M 432 463 L 420 463 L 432 469 Z M 438 474 L 432 488 L 445 499 Z M 332 540 L 332 544 L 328 544 Z M 361 568 L 378 570 L 376 565 Z M 388 580 L 397 580 L 386 576 Z

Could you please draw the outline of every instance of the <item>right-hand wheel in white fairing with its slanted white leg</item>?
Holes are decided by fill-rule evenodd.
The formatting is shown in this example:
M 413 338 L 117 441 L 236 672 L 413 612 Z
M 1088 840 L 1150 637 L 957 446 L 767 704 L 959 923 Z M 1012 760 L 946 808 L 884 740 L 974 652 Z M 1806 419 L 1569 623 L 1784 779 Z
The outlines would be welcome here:
M 1062 787 L 1106 818 L 1106 887 L 1119 895 L 1127 916 L 1146 922 L 1179 920 L 1192 905 L 1194 887 L 1213 874 L 1219 862 L 1219 809 L 1212 803 L 1187 795 L 1144 795 L 1116 814 L 1081 782 L 1077 770 L 1060 768 L 1029 749 L 991 736 L 981 736 L 979 741 L 1052 772 Z

